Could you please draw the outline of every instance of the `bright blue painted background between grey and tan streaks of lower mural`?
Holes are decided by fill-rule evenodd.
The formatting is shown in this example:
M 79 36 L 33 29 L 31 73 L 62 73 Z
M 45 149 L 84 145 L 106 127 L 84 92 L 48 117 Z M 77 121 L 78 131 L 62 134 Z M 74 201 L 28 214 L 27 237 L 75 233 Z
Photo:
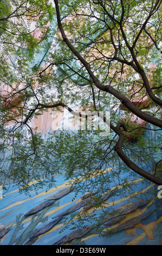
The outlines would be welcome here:
M 58 176 L 57 177 L 57 182 L 56 182 L 56 186 L 59 186 L 61 184 L 63 184 L 65 180 L 63 180 L 62 176 Z M 112 184 L 113 185 L 113 184 Z M 97 188 L 97 187 L 96 187 Z M 143 187 L 143 184 L 141 182 L 138 182 L 138 186 L 134 187 L 134 192 L 140 190 Z M 44 201 L 44 199 L 46 199 L 47 197 L 49 197 L 51 194 L 44 194 L 41 196 L 40 193 L 43 192 L 43 190 L 39 190 L 38 191 L 38 196 L 35 197 L 35 193 L 32 192 L 31 193 L 31 197 L 27 197 L 24 194 L 20 194 L 18 193 L 18 191 L 16 191 L 17 187 L 14 185 L 11 185 L 8 193 L 4 195 L 4 198 L 1 199 L 1 208 L 0 208 L 0 223 L 5 225 L 5 227 L 8 227 L 10 224 L 13 225 L 13 227 L 11 228 L 11 230 L 7 233 L 7 235 L 5 235 L 4 237 L 4 241 L 3 241 L 3 245 L 8 245 L 11 241 L 12 235 L 14 234 L 14 231 L 16 229 L 16 217 L 19 216 L 20 214 L 22 214 L 21 218 L 23 218 L 23 215 L 29 211 L 31 208 L 33 208 L 34 206 L 38 205 L 39 203 L 42 203 Z M 15 191 L 15 192 L 14 192 Z M 56 192 L 53 192 L 56 193 Z M 38 222 L 38 224 L 36 225 L 36 228 L 40 228 L 42 227 L 42 225 L 47 224 L 51 221 L 53 221 L 52 217 L 61 214 L 64 210 L 67 210 L 69 207 L 71 207 L 72 205 L 74 205 L 76 203 L 76 200 L 74 202 L 72 202 L 72 198 L 75 196 L 75 192 L 70 192 L 69 194 L 67 194 L 66 196 L 62 197 L 59 200 L 56 200 L 56 202 L 52 205 L 49 206 L 47 209 L 45 209 L 44 211 L 44 218 L 46 218 L 46 221 L 44 223 L 42 223 L 41 221 Z M 77 198 L 80 198 L 82 196 L 82 193 L 79 193 L 77 195 Z M 126 197 L 129 196 L 128 194 L 125 194 L 125 199 L 121 200 L 123 197 L 121 196 L 120 193 L 116 194 L 115 197 L 113 198 L 109 198 L 107 200 L 107 202 L 112 202 L 112 199 L 115 200 L 115 202 L 117 200 L 121 200 L 121 202 L 119 201 L 118 204 L 115 204 L 114 207 L 115 209 L 118 209 L 120 206 L 125 205 L 126 203 L 130 202 L 129 199 L 126 199 Z M 35 198 L 34 198 L 35 197 Z M 142 194 L 142 198 L 149 198 L 147 192 Z M 135 198 L 133 198 L 132 200 L 137 200 Z M 17 205 L 12 205 L 14 203 L 17 202 Z M 54 211 L 55 209 L 57 209 L 59 206 L 67 204 L 68 205 L 64 206 L 62 209 L 60 209 L 59 211 L 57 211 L 55 214 L 53 214 L 51 211 Z M 155 207 L 154 204 L 151 205 L 151 208 L 148 208 L 148 211 L 152 210 Z M 5 209 L 8 208 L 8 209 Z M 111 206 L 110 206 L 111 208 Z M 144 208 L 141 207 L 141 209 Z M 80 210 L 79 210 L 80 211 Z M 43 211 L 41 211 L 43 212 Z M 41 212 L 38 213 L 41 214 Z M 102 214 L 102 210 L 98 210 L 96 211 L 97 216 L 99 216 L 100 214 Z M 35 217 L 38 216 L 37 214 L 35 214 Z M 48 219 L 47 219 L 48 216 Z M 68 220 L 70 220 L 70 215 L 67 215 L 65 217 L 68 217 Z M 21 220 L 20 218 L 20 220 Z M 27 228 L 30 228 L 30 224 L 31 224 L 31 218 L 30 217 L 26 217 L 24 220 L 24 224 L 23 224 L 23 228 L 22 229 L 18 229 L 17 230 L 17 235 L 16 237 L 20 237 L 21 235 L 24 237 L 24 242 L 23 244 L 28 240 L 28 237 L 25 237 L 25 230 L 27 230 Z M 41 219 L 43 220 L 43 218 Z M 26 222 L 25 222 L 26 221 Z M 157 221 L 157 215 L 154 212 L 151 216 L 149 216 L 146 220 L 142 221 L 143 224 L 148 224 L 150 222 L 153 221 Z M 94 224 L 96 224 L 95 222 L 93 222 Z M 22 223 L 21 223 L 22 224 Z M 90 224 L 88 222 L 85 222 L 85 224 Z M 70 228 L 72 228 L 73 226 L 69 226 L 68 229 L 65 229 L 63 231 L 63 233 L 60 233 L 60 231 L 62 230 L 63 227 L 59 226 L 56 228 L 56 230 L 48 232 L 47 234 L 44 234 L 42 236 L 39 237 L 39 239 L 34 243 L 34 245 L 51 245 L 54 242 L 56 242 L 57 240 L 61 239 L 61 237 L 63 237 L 64 235 L 68 235 L 72 230 L 69 230 Z M 31 234 L 33 232 L 32 227 L 30 228 L 31 230 Z M 94 229 L 94 231 L 91 231 L 90 234 L 88 235 L 93 235 L 93 234 L 97 234 L 96 236 L 87 239 L 84 242 L 81 242 L 80 240 L 77 240 L 76 243 L 78 244 L 86 244 L 86 245 L 124 245 L 125 243 L 127 243 L 129 240 L 132 239 L 131 236 L 129 236 L 125 231 L 120 231 L 119 233 L 116 233 L 115 235 L 112 235 L 110 237 L 102 237 L 100 236 L 98 233 L 96 233 L 97 230 Z M 140 234 L 142 233 L 141 229 L 137 230 L 137 233 Z M 87 235 L 87 236 L 88 236 Z M 137 236 L 137 235 L 135 235 Z M 134 237 L 135 237 L 134 236 Z M 133 238 L 134 238 L 133 237 Z M 16 240 L 15 240 L 16 241 Z M 144 240 L 141 241 L 141 244 L 146 244 L 146 245 L 157 245 L 158 244 L 158 231 L 155 228 L 154 229 L 154 240 L 150 241 L 149 239 L 147 239 L 147 237 L 145 237 Z

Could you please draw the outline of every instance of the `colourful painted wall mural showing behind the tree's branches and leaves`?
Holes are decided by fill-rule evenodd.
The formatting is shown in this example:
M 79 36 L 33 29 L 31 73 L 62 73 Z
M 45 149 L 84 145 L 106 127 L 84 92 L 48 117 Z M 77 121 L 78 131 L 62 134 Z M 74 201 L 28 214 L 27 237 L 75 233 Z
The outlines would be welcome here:
M 62 17 L 63 19 L 63 17 Z M 56 27 L 56 20 L 49 22 L 48 27 Z M 35 30 L 33 36 L 40 44 L 43 35 L 39 30 Z M 100 31 L 102 34 L 103 31 Z M 94 35 L 97 38 L 98 35 Z M 52 41 L 52 36 L 49 38 Z M 88 45 L 88 42 L 87 42 Z M 48 51 L 42 48 L 42 51 L 35 57 L 31 66 L 36 64 L 43 65 Z M 16 60 L 16 57 L 15 57 Z M 76 65 L 70 60 L 69 65 Z M 30 68 L 31 68 L 30 66 Z M 58 68 L 58 72 L 66 72 L 63 67 Z M 79 83 L 79 78 L 72 76 L 72 81 Z M 131 88 L 129 88 L 131 89 Z M 139 95 L 140 97 L 140 95 Z M 134 104 L 139 102 L 138 99 L 132 99 Z M 143 109 L 148 107 L 147 98 L 142 98 L 140 102 Z M 77 108 L 80 111 L 79 108 Z M 37 127 L 37 131 L 42 136 L 59 130 L 64 125 L 66 115 L 64 109 L 62 112 L 56 113 L 44 112 L 31 122 L 31 127 Z M 137 126 L 147 127 L 147 124 L 139 120 L 134 115 L 128 117 L 126 109 L 121 106 L 121 119 L 131 118 L 136 122 Z M 72 120 L 70 131 L 73 132 L 77 128 L 77 120 Z M 145 130 L 144 136 L 158 138 L 158 132 Z M 132 140 L 138 137 L 138 134 L 128 134 L 128 139 Z M 48 137 L 50 139 L 50 136 Z M 152 166 L 157 162 L 157 155 L 153 155 Z M 118 166 L 115 170 L 118 170 Z M 112 172 L 112 168 L 102 170 L 106 175 Z M 159 173 L 161 169 L 159 170 Z M 103 175 L 104 175 L 103 174 Z M 91 182 L 96 176 L 94 172 L 92 178 L 87 180 Z M 130 178 L 131 180 L 131 178 Z M 37 181 L 33 181 L 37 182 Z M 0 199 L 0 243 L 1 245 L 162 245 L 162 198 L 154 198 L 150 200 L 150 191 L 154 191 L 158 195 L 158 187 L 152 183 L 145 186 L 139 176 L 133 181 L 132 188 L 134 194 L 127 191 L 125 196 L 120 193 L 121 186 L 115 182 L 111 184 L 111 188 L 103 194 L 98 192 L 98 183 L 91 193 L 86 191 L 85 194 L 77 193 L 75 198 L 75 186 L 72 180 L 64 179 L 63 175 L 56 176 L 56 186 L 46 191 L 44 188 L 39 189 L 37 194 L 31 191 L 30 196 L 19 193 L 15 184 L 8 185 L 5 193 L 2 193 Z M 141 191 L 140 197 L 138 192 Z M 137 195 L 137 197 L 136 197 Z M 92 208 L 91 204 L 96 196 L 101 196 L 103 203 L 100 208 Z M 73 200 L 73 198 L 75 198 Z M 107 212 L 102 217 L 103 210 Z M 86 212 L 86 216 L 95 211 L 96 216 L 100 216 L 99 223 L 95 220 L 91 223 L 85 221 L 84 227 L 73 229 L 71 214 L 75 223 L 79 217 L 77 213 Z M 68 228 L 67 227 L 68 224 Z

